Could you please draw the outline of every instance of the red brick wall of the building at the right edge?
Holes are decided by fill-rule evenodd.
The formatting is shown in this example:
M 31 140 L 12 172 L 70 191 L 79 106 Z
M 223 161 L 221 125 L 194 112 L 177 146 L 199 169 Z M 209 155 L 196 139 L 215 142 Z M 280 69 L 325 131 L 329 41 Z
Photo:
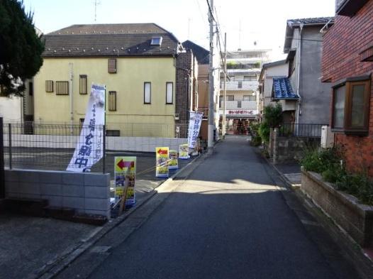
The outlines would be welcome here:
M 360 53 L 373 43 L 372 18 L 373 0 L 365 4 L 352 18 L 348 16 L 335 18 L 335 25 L 323 38 L 323 81 L 337 82 L 346 77 L 373 72 L 373 62 L 360 62 L 362 60 Z M 368 169 L 369 175 L 373 176 L 373 82 L 370 96 L 369 135 L 360 137 L 335 133 L 335 143 L 345 146 L 346 164 L 349 170 Z

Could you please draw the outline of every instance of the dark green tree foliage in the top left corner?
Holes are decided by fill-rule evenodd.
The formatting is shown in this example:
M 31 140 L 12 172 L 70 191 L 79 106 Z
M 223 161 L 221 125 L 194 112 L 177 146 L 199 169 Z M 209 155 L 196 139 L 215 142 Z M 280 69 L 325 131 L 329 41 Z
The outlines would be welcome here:
M 44 43 L 35 31 L 33 13 L 23 1 L 0 0 L 0 86 L 1 94 L 22 95 L 23 81 L 43 65 Z

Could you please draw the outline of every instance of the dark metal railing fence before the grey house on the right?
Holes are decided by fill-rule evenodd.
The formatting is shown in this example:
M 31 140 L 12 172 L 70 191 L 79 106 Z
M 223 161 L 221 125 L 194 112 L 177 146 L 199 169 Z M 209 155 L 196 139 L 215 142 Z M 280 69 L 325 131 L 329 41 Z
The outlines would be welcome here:
M 281 124 L 279 136 L 321 138 L 321 127 L 327 124 Z

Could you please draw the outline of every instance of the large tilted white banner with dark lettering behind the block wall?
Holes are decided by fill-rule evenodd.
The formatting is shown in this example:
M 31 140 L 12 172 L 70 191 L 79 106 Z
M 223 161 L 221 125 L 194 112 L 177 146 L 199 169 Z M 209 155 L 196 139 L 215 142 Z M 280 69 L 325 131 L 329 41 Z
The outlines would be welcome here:
M 91 171 L 104 155 L 105 85 L 92 84 L 86 116 L 79 141 L 67 170 L 82 173 Z

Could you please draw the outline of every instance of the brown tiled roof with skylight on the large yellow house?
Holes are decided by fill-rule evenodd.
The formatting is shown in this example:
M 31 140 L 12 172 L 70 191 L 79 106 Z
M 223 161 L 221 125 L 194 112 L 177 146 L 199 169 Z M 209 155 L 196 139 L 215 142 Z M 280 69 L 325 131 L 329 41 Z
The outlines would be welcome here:
M 160 44 L 152 38 L 162 37 Z M 155 23 L 73 25 L 44 35 L 44 57 L 176 55 L 179 40 Z

